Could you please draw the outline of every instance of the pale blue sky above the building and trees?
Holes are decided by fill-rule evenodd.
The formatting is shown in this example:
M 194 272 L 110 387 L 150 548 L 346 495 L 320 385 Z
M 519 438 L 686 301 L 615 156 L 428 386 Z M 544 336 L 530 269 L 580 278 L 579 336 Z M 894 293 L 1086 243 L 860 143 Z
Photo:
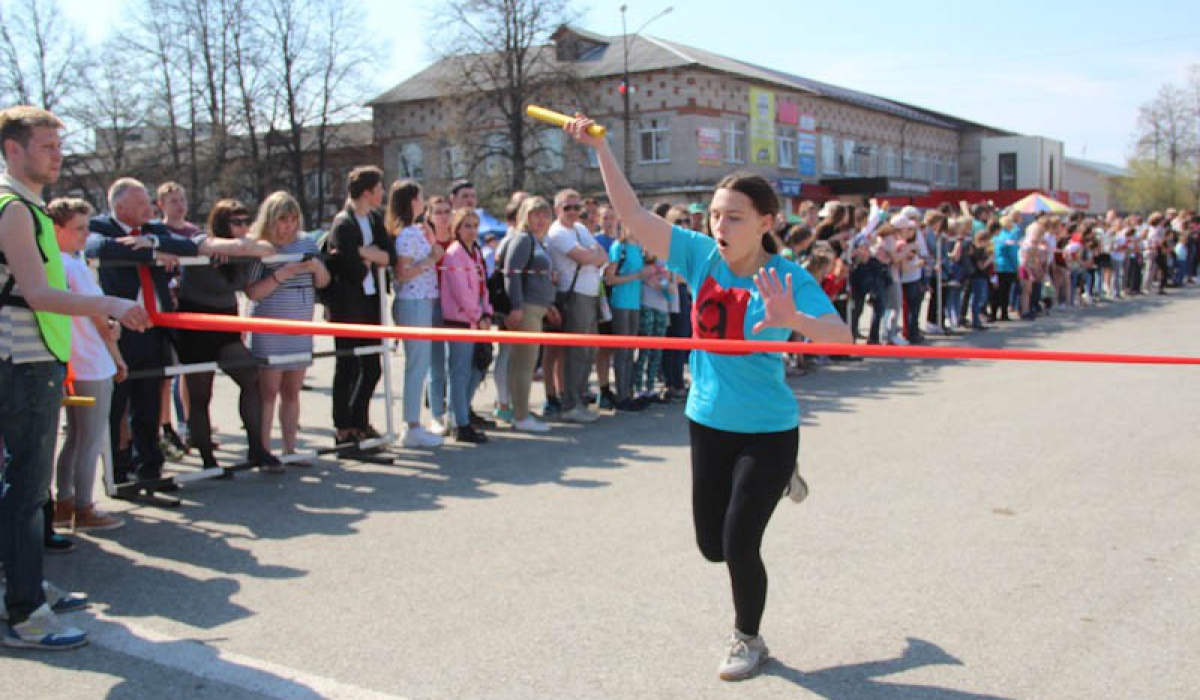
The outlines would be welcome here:
M 365 40 L 385 54 L 377 94 L 432 61 L 436 37 L 425 28 L 439 2 L 352 1 L 377 35 Z M 128 0 L 60 2 L 73 17 L 116 17 Z M 619 36 L 622 5 L 631 32 L 652 20 L 643 34 L 1055 138 L 1068 156 L 1115 164 L 1129 155 L 1139 107 L 1200 65 L 1200 24 L 1184 0 L 836 4 L 847 10 L 809 0 L 574 0 L 574 24 Z M 80 25 L 91 40 L 110 26 Z

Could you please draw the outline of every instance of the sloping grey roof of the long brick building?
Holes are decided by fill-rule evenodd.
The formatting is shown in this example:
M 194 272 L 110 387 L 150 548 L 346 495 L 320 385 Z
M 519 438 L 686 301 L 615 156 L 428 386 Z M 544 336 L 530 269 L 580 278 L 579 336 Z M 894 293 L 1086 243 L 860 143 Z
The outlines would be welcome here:
M 620 76 L 625 68 L 624 49 L 625 41 L 628 40 L 630 73 L 646 73 L 671 68 L 708 68 L 750 80 L 790 88 L 800 92 L 808 92 L 814 96 L 826 97 L 876 112 L 883 112 L 886 114 L 892 114 L 893 116 L 928 124 L 930 126 L 938 126 L 955 131 L 980 126 L 956 118 L 950 118 L 944 114 L 938 114 L 929 109 L 922 109 L 902 102 L 887 100 L 877 95 L 870 95 L 868 92 L 860 92 L 848 88 L 812 80 L 810 78 L 785 71 L 757 66 L 755 64 L 731 59 L 704 49 L 641 34 L 631 34 L 628 36 L 601 36 L 564 25 L 554 32 L 556 40 L 562 38 L 564 34 L 574 34 L 590 44 L 604 46 L 602 50 L 588 52 L 587 60 L 572 64 L 578 77 L 584 79 Z M 553 46 L 539 47 L 538 50 L 540 52 L 539 58 L 545 60 L 545 66 L 550 66 L 554 62 L 556 49 Z M 478 56 L 479 54 L 472 55 Z M 461 65 L 466 60 L 469 60 L 469 56 L 442 59 L 420 71 L 412 78 L 408 78 L 395 88 L 383 92 L 374 100 L 371 100 L 367 104 L 378 106 L 443 97 L 449 94 L 451 85 L 462 84 L 462 80 L 457 78 L 457 76 L 461 74 Z

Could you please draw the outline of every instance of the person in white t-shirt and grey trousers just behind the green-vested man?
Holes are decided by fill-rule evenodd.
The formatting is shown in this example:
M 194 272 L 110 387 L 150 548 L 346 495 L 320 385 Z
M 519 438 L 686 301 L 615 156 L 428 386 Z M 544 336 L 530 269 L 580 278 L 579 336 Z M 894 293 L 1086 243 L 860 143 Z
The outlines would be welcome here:
M 67 289 L 89 297 L 102 295 L 91 270 L 79 258 L 88 241 L 91 205 L 83 199 L 55 199 L 46 207 L 46 213 L 54 221 Z M 71 318 L 71 373 L 74 377 L 74 390 L 80 396 L 91 396 L 95 403 L 67 408 L 66 433 L 55 469 L 58 489 L 54 527 L 73 527 L 76 531 L 110 530 L 124 523 L 120 517 L 96 508 L 92 497 L 96 467 L 100 465 L 100 453 L 108 430 L 113 378 L 124 382 L 128 371 L 121 351 L 116 347 L 116 336 L 118 329 L 109 328 L 109 322 L 103 316 Z

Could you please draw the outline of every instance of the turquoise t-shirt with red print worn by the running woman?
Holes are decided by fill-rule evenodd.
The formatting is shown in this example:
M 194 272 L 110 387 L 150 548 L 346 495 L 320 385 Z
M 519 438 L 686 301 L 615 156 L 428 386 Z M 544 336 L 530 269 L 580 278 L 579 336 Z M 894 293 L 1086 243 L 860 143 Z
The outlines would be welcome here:
M 671 231 L 671 270 L 683 275 L 692 289 L 692 337 L 785 341 L 792 331 L 767 328 L 762 297 L 752 277 L 734 275 L 716 250 L 716 241 L 678 226 Z M 767 263 L 781 281 L 792 275 L 797 310 L 810 316 L 836 313 L 829 298 L 804 268 L 774 256 Z M 739 355 L 691 352 L 691 391 L 688 418 L 730 432 L 780 432 L 800 424 L 799 406 L 784 375 L 780 353 Z

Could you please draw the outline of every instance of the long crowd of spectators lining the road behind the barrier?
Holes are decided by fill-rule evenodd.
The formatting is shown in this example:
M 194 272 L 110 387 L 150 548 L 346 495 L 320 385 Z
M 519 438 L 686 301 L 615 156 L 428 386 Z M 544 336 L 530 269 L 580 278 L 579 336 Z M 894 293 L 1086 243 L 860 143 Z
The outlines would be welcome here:
M 161 185 L 151 199 L 145 186 L 122 178 L 108 199 L 109 213 L 90 222 L 82 201 L 48 207 L 71 263 L 72 288 L 83 293 L 134 299 L 148 285 L 164 310 L 311 321 L 320 305 L 331 322 L 380 324 L 390 292 L 392 321 L 406 327 L 692 333 L 684 281 L 642 250 L 610 207 L 570 189 L 551 198 L 514 193 L 505 229 L 487 232 L 472 183 L 458 180 L 445 195 L 426 196 L 412 180 L 385 187 L 374 167 L 350 173 L 346 208 L 328 233 L 304 234 L 300 209 L 286 192 L 266 197 L 257 213 L 222 199 L 204 227 L 187 221 L 187 193 L 175 183 Z M 656 210 L 676 226 L 704 232 L 702 203 L 662 203 Z M 775 234 L 781 253 L 820 282 L 856 339 L 910 345 L 1193 283 L 1200 221 L 1176 210 L 1147 217 L 1027 216 L 989 204 L 920 211 L 872 199 L 868 207 L 805 202 L 798 214 L 780 216 Z M 288 253 L 300 259 L 271 257 Z M 179 264 L 180 257 L 197 255 L 211 256 L 214 264 Z M 98 269 L 98 287 L 80 262 L 84 256 Z M 88 426 L 108 426 L 116 483 L 169 487 L 161 484 L 163 462 L 193 449 L 203 466 L 221 466 L 209 419 L 214 372 L 146 378 L 146 370 L 175 361 L 216 363 L 236 382 L 248 465 L 266 473 L 307 465 L 298 432 L 311 336 L 251 333 L 247 340 L 235 331 L 169 329 L 122 335 L 112 323 L 76 325 L 76 378 L 97 402 L 68 412 L 55 526 L 120 525 L 92 497 L 98 444 L 89 439 L 95 430 Z M 336 359 L 331 418 L 343 456 L 378 449 L 358 445 L 382 435 L 368 420 L 382 358 L 350 352 L 364 345 L 378 341 L 336 340 L 346 352 Z M 803 375 L 857 359 L 794 354 L 785 369 Z M 497 348 L 409 339 L 403 341 L 401 444 L 437 448 L 448 438 L 484 444 L 488 431 L 546 432 L 554 424 L 589 424 L 608 412 L 680 402 L 688 395 L 685 363 L 682 351 L 503 342 Z M 139 370 L 138 378 L 126 378 Z M 488 373 L 496 403 L 478 407 L 475 394 Z M 545 401 L 532 406 L 538 381 Z

